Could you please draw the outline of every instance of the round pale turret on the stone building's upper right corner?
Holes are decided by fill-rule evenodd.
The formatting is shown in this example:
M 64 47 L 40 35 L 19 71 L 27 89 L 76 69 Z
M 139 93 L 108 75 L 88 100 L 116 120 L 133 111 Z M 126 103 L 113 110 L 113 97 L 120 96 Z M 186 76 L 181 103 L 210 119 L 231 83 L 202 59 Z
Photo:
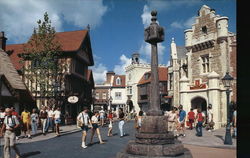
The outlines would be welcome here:
M 216 20 L 217 37 L 223 38 L 228 36 L 228 17 L 220 17 Z

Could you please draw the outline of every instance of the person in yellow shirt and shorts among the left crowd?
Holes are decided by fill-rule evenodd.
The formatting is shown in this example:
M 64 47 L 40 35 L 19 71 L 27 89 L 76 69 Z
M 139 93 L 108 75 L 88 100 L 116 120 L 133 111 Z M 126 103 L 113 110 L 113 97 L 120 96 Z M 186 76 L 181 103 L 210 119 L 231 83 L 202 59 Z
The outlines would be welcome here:
M 30 136 L 30 112 L 28 112 L 28 110 L 25 108 L 24 111 L 21 114 L 21 119 L 23 122 L 23 132 L 24 132 L 24 136 L 28 137 L 29 139 L 31 139 Z M 28 136 L 26 135 L 28 133 Z

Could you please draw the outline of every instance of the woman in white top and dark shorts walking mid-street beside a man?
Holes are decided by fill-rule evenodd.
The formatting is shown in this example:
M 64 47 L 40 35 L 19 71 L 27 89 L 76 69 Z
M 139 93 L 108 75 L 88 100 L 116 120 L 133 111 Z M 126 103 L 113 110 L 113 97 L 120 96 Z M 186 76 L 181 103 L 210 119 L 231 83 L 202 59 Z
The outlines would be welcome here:
M 99 129 L 99 121 L 98 121 L 99 113 L 94 112 L 94 115 L 91 117 L 91 124 L 92 124 L 92 133 L 91 133 L 91 138 L 90 138 L 90 144 L 93 144 L 93 137 L 95 135 L 95 132 L 97 133 L 98 139 L 100 141 L 100 144 L 104 144 L 101 138 L 101 132 Z

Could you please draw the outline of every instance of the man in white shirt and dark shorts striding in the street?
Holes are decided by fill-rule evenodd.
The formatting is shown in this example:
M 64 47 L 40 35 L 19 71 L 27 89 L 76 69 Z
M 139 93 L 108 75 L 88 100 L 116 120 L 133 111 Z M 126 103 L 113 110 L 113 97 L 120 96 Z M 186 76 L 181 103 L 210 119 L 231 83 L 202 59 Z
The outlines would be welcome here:
M 82 148 L 87 148 L 86 145 L 86 137 L 89 126 L 92 127 L 91 121 L 88 115 L 88 108 L 83 107 L 83 111 L 77 116 L 77 121 L 79 122 L 79 126 L 82 129 Z

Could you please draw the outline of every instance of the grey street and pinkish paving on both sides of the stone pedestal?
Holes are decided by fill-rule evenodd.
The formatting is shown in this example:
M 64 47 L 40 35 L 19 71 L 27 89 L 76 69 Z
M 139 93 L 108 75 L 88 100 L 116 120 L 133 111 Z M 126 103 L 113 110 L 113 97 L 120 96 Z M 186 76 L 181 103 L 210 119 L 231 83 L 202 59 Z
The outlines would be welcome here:
M 99 144 L 97 136 L 94 137 L 94 144 L 89 145 L 88 148 L 81 148 L 81 132 L 75 125 L 64 126 L 62 129 L 62 136 L 55 137 L 54 133 L 49 133 L 46 136 L 39 135 L 33 139 L 23 138 L 18 141 L 18 148 L 21 153 L 28 158 L 115 158 L 116 153 L 125 148 L 128 141 L 134 139 L 133 121 L 126 122 L 124 125 L 125 137 L 119 137 L 119 130 L 117 122 L 113 126 L 113 137 L 107 137 L 107 127 L 100 128 L 103 140 L 106 144 Z M 184 143 L 187 139 L 193 139 L 195 142 L 198 138 L 191 136 L 194 131 L 187 131 L 187 136 L 183 139 Z M 190 134 L 189 134 L 190 133 Z M 214 132 L 215 133 L 215 132 Z M 223 134 L 223 132 L 221 132 Z M 188 138 L 190 135 L 192 138 Z M 208 139 L 213 138 L 209 136 Z M 196 139 L 195 139 L 196 138 Z M 206 135 L 199 139 L 206 139 Z M 87 143 L 90 141 L 90 130 L 88 131 Z M 202 143 L 200 143 L 202 144 Z M 222 143 L 223 144 L 223 141 Z M 221 149 L 211 148 L 197 145 L 184 144 L 186 148 L 190 149 L 194 158 L 234 158 L 236 157 L 236 149 Z M 206 145 L 206 144 L 203 144 Z M 2 152 L 2 149 L 1 149 Z M 0 153 L 0 157 L 1 157 Z M 13 154 L 13 153 L 12 153 Z

